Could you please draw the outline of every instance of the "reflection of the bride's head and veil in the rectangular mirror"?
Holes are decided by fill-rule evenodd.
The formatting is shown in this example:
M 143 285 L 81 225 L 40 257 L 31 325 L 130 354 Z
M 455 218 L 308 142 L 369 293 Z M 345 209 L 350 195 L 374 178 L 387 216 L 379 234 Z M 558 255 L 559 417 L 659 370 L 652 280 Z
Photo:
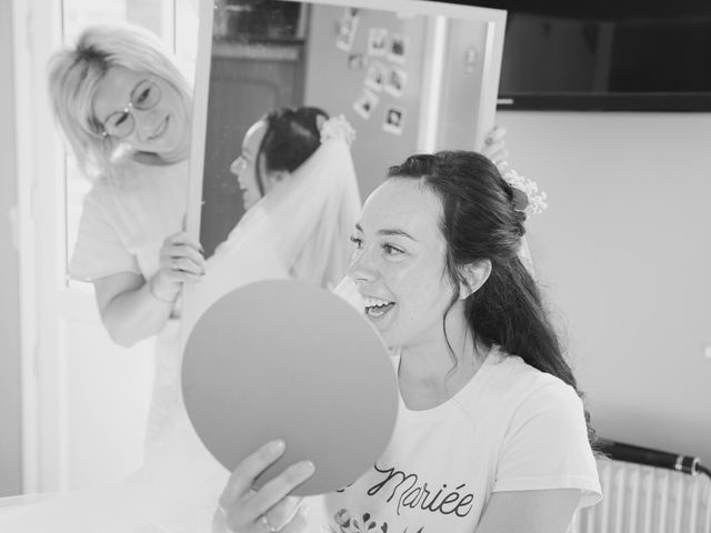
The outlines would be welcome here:
M 281 108 L 247 132 L 230 170 L 247 213 L 196 286 L 191 315 L 227 291 L 261 279 L 293 279 L 332 289 L 348 268 L 350 228 L 360 194 L 342 117 Z

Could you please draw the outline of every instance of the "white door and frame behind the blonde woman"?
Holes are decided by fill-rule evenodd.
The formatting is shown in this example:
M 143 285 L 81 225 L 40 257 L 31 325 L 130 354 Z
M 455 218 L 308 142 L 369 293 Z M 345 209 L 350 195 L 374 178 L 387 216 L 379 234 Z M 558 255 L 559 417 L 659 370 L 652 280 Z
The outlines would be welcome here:
M 53 123 L 47 62 L 82 27 L 126 21 L 194 62 L 197 0 L 16 0 L 19 213 L 23 341 L 23 490 L 118 481 L 141 461 L 152 341 L 111 342 L 93 286 L 68 280 L 83 194 Z

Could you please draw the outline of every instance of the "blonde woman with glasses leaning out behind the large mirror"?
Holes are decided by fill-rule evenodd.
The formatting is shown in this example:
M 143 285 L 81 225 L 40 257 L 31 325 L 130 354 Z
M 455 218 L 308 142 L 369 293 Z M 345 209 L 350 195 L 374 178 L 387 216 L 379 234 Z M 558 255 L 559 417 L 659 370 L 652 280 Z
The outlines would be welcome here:
M 109 334 L 132 345 L 161 331 L 182 284 L 203 273 L 200 245 L 181 231 L 191 90 L 150 33 L 93 27 L 54 56 L 49 92 L 93 181 L 70 273 L 94 284 Z

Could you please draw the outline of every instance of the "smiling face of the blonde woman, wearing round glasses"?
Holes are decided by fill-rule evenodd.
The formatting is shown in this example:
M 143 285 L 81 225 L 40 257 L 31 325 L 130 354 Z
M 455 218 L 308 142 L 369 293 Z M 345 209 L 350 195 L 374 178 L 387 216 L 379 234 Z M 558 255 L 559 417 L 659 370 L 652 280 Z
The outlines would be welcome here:
M 120 137 L 139 152 L 167 160 L 188 154 L 188 110 L 180 93 L 159 77 L 112 67 L 99 82 L 92 110 L 108 135 Z

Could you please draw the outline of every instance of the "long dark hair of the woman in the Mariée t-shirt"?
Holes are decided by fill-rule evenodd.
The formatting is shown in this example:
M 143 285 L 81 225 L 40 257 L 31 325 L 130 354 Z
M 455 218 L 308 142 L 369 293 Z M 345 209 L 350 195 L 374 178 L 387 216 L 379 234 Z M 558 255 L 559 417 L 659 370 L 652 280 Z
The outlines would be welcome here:
M 518 257 L 525 214 L 514 209 L 513 189 L 497 167 L 475 152 L 443 151 L 412 155 L 391 167 L 388 177 L 422 180 L 442 203 L 440 230 L 447 241 L 447 273 L 453 288 L 447 313 L 459 299 L 460 283 L 465 283 L 463 266 L 489 259 L 489 279 L 464 301 L 474 341 L 502 346 L 507 353 L 561 379 L 583 398 L 540 290 Z M 447 335 L 444 320 L 442 328 Z M 587 412 L 585 419 L 589 422 Z M 594 443 L 590 424 L 588 436 Z

